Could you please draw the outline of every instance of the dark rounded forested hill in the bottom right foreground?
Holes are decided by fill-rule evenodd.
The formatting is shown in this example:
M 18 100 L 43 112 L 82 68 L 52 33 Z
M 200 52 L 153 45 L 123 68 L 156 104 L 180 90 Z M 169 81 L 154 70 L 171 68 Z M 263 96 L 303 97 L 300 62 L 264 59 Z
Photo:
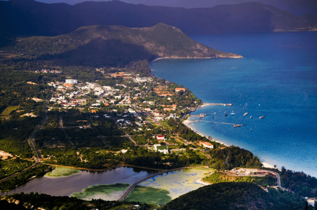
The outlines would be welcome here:
M 222 182 L 198 188 L 163 206 L 171 209 L 305 209 L 306 202 L 297 194 L 269 189 L 249 182 Z M 313 209 L 313 207 L 309 207 Z

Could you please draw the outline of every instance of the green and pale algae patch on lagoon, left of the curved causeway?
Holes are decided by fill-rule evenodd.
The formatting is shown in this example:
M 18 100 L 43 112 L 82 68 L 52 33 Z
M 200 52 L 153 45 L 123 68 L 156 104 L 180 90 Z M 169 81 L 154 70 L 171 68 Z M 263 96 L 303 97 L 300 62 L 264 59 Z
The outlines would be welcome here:
M 92 199 L 102 199 L 105 201 L 113 201 L 119 199 L 130 184 L 97 184 L 84 188 L 82 192 L 72 193 L 71 196 L 80 198 L 86 201 Z

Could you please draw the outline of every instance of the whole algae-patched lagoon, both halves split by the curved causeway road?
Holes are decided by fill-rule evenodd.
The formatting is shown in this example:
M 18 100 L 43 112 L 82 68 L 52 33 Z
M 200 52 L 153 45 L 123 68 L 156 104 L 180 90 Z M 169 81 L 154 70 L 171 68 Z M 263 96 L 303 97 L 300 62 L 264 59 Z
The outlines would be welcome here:
M 166 172 L 139 183 L 125 200 L 164 205 L 180 195 L 203 187 L 196 180 L 212 171 L 207 168 L 192 168 Z M 119 167 L 103 172 L 57 167 L 45 176 L 34 178 L 0 195 L 38 192 L 55 196 L 74 196 L 89 201 L 99 198 L 112 201 L 119 199 L 133 182 L 155 173 L 155 170 L 131 167 Z

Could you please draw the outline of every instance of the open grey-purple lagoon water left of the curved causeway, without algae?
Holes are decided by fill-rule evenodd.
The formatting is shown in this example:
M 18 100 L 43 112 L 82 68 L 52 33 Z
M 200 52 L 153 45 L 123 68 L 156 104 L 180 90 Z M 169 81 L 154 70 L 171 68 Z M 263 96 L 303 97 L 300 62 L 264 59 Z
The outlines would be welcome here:
M 128 183 L 132 184 L 139 179 L 155 174 L 156 171 L 140 170 L 131 167 L 119 167 L 103 172 L 89 172 L 80 171 L 71 176 L 62 177 L 47 177 L 42 176 L 34 178 L 8 193 L 1 193 L 0 195 L 14 194 L 14 193 L 30 193 L 38 192 L 54 196 L 70 196 L 74 192 L 81 192 L 83 188 L 87 188 L 96 184 L 114 184 L 114 183 Z

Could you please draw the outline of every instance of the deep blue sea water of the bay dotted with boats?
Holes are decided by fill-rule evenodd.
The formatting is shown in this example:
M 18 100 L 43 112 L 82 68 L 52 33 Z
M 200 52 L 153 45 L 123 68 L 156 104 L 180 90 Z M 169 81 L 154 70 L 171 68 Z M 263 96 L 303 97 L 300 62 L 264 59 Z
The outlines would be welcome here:
M 203 102 L 233 104 L 196 110 L 193 114 L 209 115 L 191 126 L 227 145 L 247 149 L 268 164 L 317 177 L 317 32 L 191 38 L 244 57 L 161 59 L 150 64 L 155 76 L 184 85 Z M 236 115 L 230 115 L 232 111 Z M 243 117 L 245 112 L 249 114 Z

